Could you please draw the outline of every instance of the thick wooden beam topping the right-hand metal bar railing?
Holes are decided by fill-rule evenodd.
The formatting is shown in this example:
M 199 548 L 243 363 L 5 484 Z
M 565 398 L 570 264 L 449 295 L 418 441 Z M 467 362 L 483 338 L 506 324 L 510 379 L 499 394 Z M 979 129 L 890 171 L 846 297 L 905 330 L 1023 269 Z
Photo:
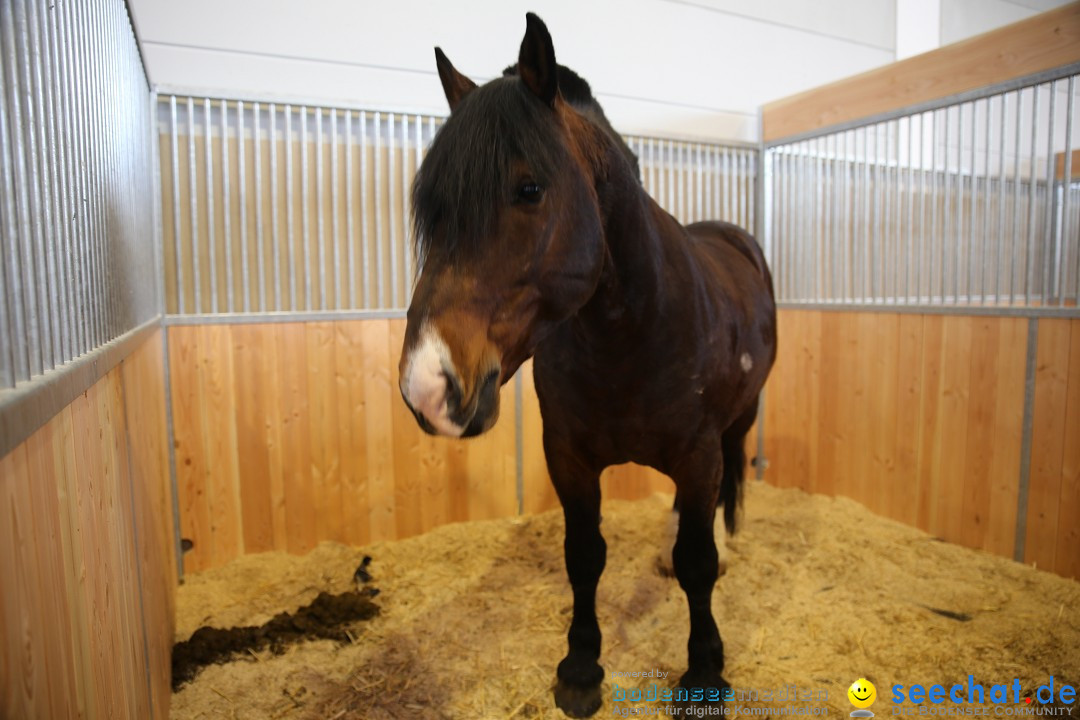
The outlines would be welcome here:
M 761 108 L 766 141 L 1080 62 L 1080 3 Z

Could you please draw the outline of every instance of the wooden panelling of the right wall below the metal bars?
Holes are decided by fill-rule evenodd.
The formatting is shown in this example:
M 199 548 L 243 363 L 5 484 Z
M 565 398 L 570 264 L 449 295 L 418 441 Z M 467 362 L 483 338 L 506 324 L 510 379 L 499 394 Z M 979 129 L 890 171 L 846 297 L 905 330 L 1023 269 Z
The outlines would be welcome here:
M 766 479 L 1013 557 L 1027 318 L 783 310 Z M 1080 321 L 1039 321 L 1025 559 L 1080 578 Z M 1071 441 L 1069 440 L 1071 438 Z

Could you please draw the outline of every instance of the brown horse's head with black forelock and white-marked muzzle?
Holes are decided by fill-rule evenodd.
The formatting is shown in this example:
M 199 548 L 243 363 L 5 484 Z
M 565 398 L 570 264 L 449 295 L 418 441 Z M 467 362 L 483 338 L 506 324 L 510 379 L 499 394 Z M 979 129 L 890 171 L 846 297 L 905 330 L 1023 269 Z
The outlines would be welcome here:
M 421 427 L 478 435 L 499 386 L 595 293 L 603 131 L 563 99 L 548 28 L 527 15 L 518 74 L 477 87 L 437 47 L 450 117 L 413 186 L 422 268 L 401 391 Z

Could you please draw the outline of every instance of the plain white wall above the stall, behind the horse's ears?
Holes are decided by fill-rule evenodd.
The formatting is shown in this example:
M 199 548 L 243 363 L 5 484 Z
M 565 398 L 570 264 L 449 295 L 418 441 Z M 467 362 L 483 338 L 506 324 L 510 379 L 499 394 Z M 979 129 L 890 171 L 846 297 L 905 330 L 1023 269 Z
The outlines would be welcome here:
M 532 10 L 624 133 L 756 140 L 757 108 L 895 58 L 912 0 L 130 0 L 151 82 L 445 114 L 432 46 L 482 81 Z M 1017 0 L 1018 1 L 1018 0 Z M 1036 9 L 940 0 L 941 37 Z M 983 2 L 1008 6 L 987 21 Z M 1024 0 L 1061 4 L 1058 0 Z M 1011 13 L 1011 14 L 1010 14 Z M 1026 16 L 1026 15 L 1025 15 Z M 973 33 L 973 32 L 969 32 Z M 951 36 L 948 36 L 951 37 Z

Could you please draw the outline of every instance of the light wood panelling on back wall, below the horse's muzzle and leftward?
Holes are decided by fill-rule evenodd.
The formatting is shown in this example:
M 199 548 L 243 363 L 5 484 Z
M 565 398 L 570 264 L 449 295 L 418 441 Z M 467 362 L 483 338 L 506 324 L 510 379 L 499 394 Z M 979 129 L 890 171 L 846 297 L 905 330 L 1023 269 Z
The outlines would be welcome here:
M 517 512 L 513 383 L 490 433 L 430 437 L 397 389 L 404 331 L 404 320 L 170 328 L 186 570 Z

